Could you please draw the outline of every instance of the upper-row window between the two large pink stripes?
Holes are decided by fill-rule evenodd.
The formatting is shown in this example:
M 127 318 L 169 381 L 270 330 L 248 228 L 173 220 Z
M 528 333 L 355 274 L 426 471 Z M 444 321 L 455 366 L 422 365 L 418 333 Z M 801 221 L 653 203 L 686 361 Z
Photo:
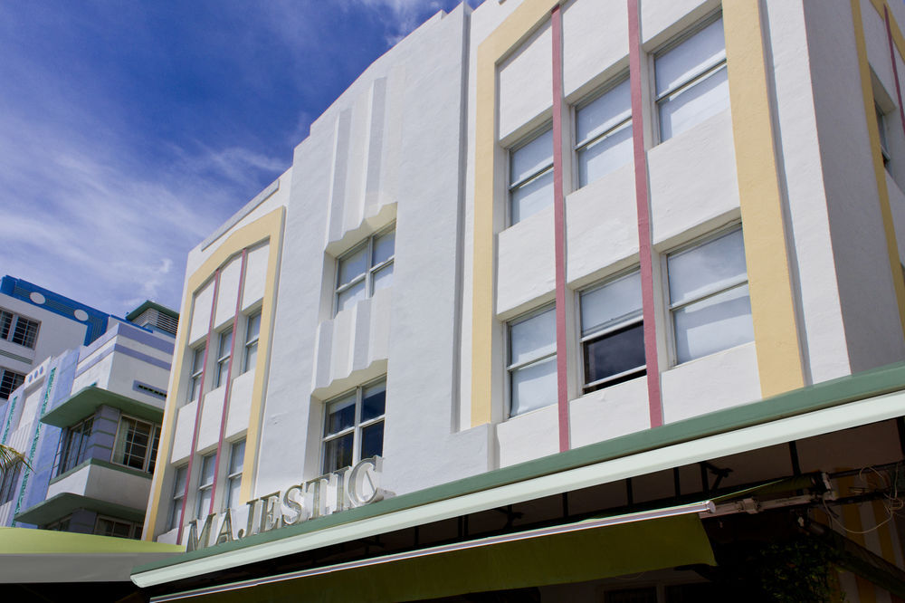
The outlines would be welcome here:
M 578 187 L 632 160 L 632 91 L 627 79 L 576 109 L 575 138 Z

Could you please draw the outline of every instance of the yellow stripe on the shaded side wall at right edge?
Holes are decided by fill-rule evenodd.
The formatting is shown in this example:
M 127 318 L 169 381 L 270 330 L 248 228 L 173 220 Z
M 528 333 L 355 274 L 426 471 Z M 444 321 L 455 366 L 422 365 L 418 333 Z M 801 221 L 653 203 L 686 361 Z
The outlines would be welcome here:
M 886 252 L 890 261 L 890 276 L 892 279 L 892 286 L 896 292 L 896 302 L 899 306 L 899 322 L 902 335 L 905 336 L 905 279 L 902 278 L 901 264 L 899 261 L 899 244 L 896 241 L 895 225 L 892 222 L 890 192 L 886 188 L 886 168 L 883 167 L 883 156 L 880 150 L 880 130 L 877 128 L 877 120 L 874 119 L 871 64 L 867 60 L 867 43 L 864 41 L 864 22 L 862 21 L 861 1 L 851 1 L 854 41 L 855 48 L 858 51 L 858 67 L 861 72 L 861 93 L 864 100 L 864 118 L 867 120 L 867 133 L 871 139 L 873 175 L 877 180 L 877 196 L 880 201 L 883 234 L 886 235 Z M 890 15 L 890 24 L 892 24 L 891 17 L 892 15 Z

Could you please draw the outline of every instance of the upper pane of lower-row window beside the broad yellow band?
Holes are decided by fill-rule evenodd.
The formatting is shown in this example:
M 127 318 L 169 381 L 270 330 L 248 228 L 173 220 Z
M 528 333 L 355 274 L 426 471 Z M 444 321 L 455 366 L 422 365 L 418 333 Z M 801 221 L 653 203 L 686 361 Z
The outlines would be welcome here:
M 691 301 L 744 279 L 747 269 L 741 230 L 670 255 L 667 271 L 672 304 Z

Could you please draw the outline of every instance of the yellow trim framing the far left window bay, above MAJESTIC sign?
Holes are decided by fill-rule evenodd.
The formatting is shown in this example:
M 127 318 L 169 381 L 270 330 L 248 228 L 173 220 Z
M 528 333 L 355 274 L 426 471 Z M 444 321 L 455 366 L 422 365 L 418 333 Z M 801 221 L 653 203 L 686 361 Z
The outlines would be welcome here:
M 176 341 L 176 354 L 173 359 L 173 383 L 167 393 L 167 407 L 164 412 L 163 433 L 157 452 L 157 466 L 169 467 L 169 459 L 172 454 L 173 437 L 176 433 L 176 417 L 179 414 L 180 392 L 182 392 L 182 366 L 185 361 L 189 332 L 191 330 L 192 302 L 195 294 L 199 292 L 206 282 L 214 275 L 218 268 L 227 263 L 234 254 L 241 252 L 245 247 L 269 241 L 270 257 L 267 264 L 267 278 L 264 284 L 264 297 L 261 310 L 261 335 L 258 339 L 258 360 L 255 367 L 254 385 L 252 387 L 252 407 L 249 416 L 248 434 L 246 436 L 244 466 L 246 470 L 242 477 L 242 497 L 248 499 L 251 496 L 252 481 L 254 479 L 254 467 L 257 459 L 258 438 L 261 432 L 261 414 L 266 385 L 266 373 L 271 345 L 271 333 L 273 330 L 273 311 L 276 305 L 276 284 L 279 267 L 279 259 L 282 247 L 283 223 L 285 221 L 286 208 L 279 207 L 267 215 L 263 215 L 249 225 L 233 232 L 232 235 L 214 250 L 204 263 L 192 273 L 186 281 L 186 295 L 183 300 L 183 308 L 180 316 L 185 317 L 179 325 L 179 333 Z M 199 400 L 199 404 L 201 401 Z M 161 473 L 162 475 L 162 473 Z M 154 540 L 157 530 L 157 517 L 161 504 L 168 503 L 169 496 L 162 497 L 162 478 L 155 478 L 151 484 L 150 508 L 145 524 L 145 539 Z M 166 500 L 165 500 L 166 499 Z

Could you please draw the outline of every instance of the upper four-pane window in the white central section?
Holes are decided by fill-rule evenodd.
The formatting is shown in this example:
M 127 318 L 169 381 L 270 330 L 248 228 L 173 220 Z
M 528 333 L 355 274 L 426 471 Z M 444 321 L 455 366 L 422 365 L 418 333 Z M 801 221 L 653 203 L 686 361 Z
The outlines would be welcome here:
M 395 227 L 368 237 L 337 261 L 336 312 L 371 297 L 393 281 Z

